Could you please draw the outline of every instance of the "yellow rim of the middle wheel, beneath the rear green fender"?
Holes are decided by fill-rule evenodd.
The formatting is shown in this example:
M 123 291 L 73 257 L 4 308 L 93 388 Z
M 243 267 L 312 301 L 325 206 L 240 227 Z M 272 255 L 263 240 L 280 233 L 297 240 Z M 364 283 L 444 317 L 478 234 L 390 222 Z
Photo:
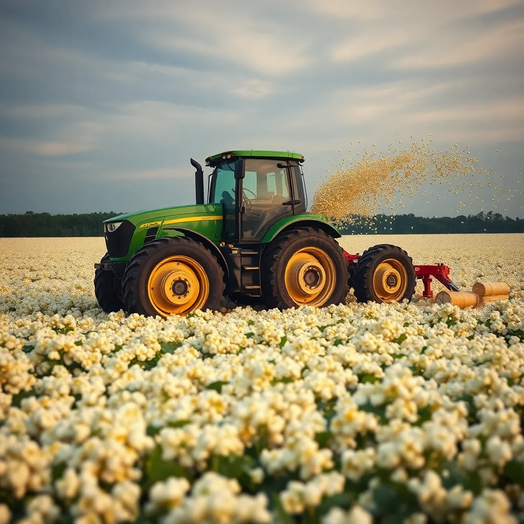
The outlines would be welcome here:
M 335 289 L 335 265 L 322 249 L 304 247 L 289 259 L 284 280 L 293 302 L 320 308 Z

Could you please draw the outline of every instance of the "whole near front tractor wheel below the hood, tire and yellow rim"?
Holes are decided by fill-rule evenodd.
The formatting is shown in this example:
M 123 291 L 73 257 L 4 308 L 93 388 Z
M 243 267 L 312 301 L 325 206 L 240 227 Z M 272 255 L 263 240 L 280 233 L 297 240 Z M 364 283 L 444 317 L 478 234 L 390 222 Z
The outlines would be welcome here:
M 126 311 L 146 316 L 219 310 L 224 272 L 209 249 L 187 237 L 144 244 L 129 260 L 123 281 Z

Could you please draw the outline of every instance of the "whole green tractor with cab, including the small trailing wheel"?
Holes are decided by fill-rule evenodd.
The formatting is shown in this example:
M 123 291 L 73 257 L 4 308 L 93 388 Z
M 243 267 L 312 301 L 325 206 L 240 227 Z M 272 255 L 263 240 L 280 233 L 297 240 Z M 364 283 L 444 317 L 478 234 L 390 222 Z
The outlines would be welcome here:
M 323 215 L 307 213 L 301 164 L 288 151 L 227 151 L 213 168 L 204 203 L 202 167 L 196 204 L 115 216 L 104 222 L 107 254 L 95 264 L 95 295 L 106 311 L 168 316 L 237 303 L 286 309 L 343 302 L 411 299 L 411 258 L 380 245 L 362 257 L 335 241 Z M 361 264 L 362 262 L 362 264 Z

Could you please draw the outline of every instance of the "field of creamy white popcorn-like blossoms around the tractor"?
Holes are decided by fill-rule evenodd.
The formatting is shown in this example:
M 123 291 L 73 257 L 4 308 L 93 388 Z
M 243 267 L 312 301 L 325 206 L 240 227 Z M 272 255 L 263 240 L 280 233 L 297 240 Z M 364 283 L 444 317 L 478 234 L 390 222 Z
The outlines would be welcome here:
M 509 302 L 126 318 L 103 238 L 1 239 L 0 523 L 524 520 L 524 235 L 386 239 Z

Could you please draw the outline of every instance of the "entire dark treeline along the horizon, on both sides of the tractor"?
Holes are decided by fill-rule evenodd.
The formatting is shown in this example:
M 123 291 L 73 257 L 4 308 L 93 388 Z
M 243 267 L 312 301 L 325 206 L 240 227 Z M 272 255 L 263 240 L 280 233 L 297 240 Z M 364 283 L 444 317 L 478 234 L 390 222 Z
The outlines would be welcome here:
M 102 222 L 121 213 L 83 213 L 51 215 L 33 213 L 0 215 L 0 237 L 27 236 L 103 236 Z M 340 229 L 345 234 L 411 234 L 411 233 L 524 233 L 524 220 L 511 219 L 500 213 L 478 213 L 469 216 L 427 218 L 408 215 L 377 215 L 373 220 L 350 217 Z

